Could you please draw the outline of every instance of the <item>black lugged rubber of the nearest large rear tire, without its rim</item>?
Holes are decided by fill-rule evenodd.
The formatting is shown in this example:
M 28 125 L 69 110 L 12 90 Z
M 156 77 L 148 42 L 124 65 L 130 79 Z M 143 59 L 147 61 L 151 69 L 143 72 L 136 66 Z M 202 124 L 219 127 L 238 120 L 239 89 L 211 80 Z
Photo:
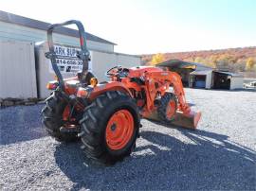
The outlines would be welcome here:
M 133 113 L 133 115 L 137 117 L 134 143 L 127 148 L 124 153 L 116 156 L 102 143 L 102 140 L 104 140 L 102 136 L 104 136 L 105 126 L 109 118 L 109 116 L 103 113 L 106 113 L 106 110 L 111 107 L 114 102 L 119 102 L 120 104 L 125 102 L 126 105 L 130 106 L 130 109 L 134 110 L 135 113 Z M 120 105 L 120 107 L 122 106 Z M 135 148 L 139 122 L 137 105 L 130 96 L 118 91 L 106 92 L 98 96 L 93 103 L 84 110 L 82 120 L 80 120 L 82 150 L 86 153 L 88 158 L 92 158 L 104 164 L 115 164 L 117 161 L 121 161 L 125 156 L 130 155 L 133 148 Z

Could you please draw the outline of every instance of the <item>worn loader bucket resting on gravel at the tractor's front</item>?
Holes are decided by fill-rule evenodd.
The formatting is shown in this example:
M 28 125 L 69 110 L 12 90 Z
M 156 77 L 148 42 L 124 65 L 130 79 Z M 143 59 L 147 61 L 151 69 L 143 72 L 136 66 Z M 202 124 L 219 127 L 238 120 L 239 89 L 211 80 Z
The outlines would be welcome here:
M 152 113 L 147 118 L 161 122 L 160 119 L 158 118 L 156 112 Z M 171 125 L 186 128 L 186 129 L 195 130 L 200 118 L 201 118 L 201 112 L 198 112 L 198 113 L 191 112 L 191 113 L 188 113 L 188 114 L 177 112 L 175 114 L 174 121 L 171 123 Z

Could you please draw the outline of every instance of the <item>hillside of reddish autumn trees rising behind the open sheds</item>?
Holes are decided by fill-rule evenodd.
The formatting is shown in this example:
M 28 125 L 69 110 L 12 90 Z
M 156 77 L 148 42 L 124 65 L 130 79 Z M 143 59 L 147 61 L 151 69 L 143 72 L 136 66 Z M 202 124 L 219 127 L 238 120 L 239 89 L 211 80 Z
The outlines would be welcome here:
M 199 62 L 232 72 L 256 71 L 256 46 L 219 50 L 163 53 L 163 61 L 177 59 Z M 154 55 L 142 55 L 142 64 L 152 64 Z M 250 64 L 250 65 L 248 65 Z

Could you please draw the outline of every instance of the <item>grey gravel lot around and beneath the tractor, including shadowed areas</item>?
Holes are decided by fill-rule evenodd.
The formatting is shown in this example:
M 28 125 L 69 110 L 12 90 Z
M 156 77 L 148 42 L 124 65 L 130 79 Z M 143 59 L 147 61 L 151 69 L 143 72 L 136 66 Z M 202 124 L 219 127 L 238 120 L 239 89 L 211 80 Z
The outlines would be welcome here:
M 198 130 L 142 120 L 136 151 L 114 166 L 47 136 L 43 105 L 0 110 L 0 189 L 255 190 L 256 92 L 186 92 Z

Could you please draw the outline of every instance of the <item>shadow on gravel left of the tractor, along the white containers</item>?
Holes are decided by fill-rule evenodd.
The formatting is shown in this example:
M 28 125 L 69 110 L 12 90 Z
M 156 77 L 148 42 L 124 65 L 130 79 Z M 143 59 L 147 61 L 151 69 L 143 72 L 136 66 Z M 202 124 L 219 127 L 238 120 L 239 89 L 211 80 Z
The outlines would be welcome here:
M 15 106 L 0 110 L 0 145 L 39 139 L 46 136 L 41 123 L 43 106 Z

